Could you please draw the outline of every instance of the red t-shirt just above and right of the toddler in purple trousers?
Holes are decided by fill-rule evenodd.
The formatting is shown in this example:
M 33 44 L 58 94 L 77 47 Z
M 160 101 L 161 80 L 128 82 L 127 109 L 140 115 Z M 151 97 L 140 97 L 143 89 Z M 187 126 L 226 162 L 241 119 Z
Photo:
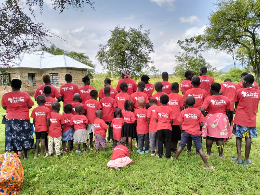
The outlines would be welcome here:
M 106 122 L 110 122 L 113 120 L 115 108 L 117 106 L 115 99 L 111 97 L 104 97 L 100 100 L 100 104 L 102 106 L 103 111 L 103 120 Z

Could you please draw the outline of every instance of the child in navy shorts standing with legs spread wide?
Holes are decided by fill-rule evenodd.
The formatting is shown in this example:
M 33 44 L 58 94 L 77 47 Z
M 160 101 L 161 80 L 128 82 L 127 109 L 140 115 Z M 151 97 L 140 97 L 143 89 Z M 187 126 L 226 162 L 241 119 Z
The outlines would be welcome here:
M 188 105 L 188 107 L 185 110 L 181 111 L 178 117 L 182 135 L 180 146 L 175 154 L 174 160 L 178 158 L 181 151 L 191 138 L 196 146 L 196 150 L 205 163 L 204 169 L 215 169 L 215 167 L 209 165 L 201 143 L 200 127 L 203 126 L 203 120 L 205 118 L 198 109 L 193 107 L 193 105 L 195 104 L 195 98 L 193 96 L 189 96 L 186 98 L 186 104 Z

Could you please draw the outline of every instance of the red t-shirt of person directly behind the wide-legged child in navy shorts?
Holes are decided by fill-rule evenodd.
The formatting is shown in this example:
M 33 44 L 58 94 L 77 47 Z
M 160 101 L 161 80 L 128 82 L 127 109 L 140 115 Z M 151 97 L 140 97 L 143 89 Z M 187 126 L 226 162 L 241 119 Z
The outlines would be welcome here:
M 186 101 L 188 96 L 193 96 L 196 99 L 193 107 L 197 109 L 200 109 L 204 100 L 208 97 L 207 92 L 201 88 L 191 88 L 187 90 L 183 96 L 184 101 Z

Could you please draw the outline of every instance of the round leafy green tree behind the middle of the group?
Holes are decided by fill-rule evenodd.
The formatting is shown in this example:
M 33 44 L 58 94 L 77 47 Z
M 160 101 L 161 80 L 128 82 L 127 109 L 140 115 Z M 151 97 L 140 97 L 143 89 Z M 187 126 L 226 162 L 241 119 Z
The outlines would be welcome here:
M 96 54 L 103 69 L 120 76 L 123 68 L 133 72 L 132 77 L 138 78 L 142 69 L 147 69 L 153 63 L 149 54 L 154 52 L 153 42 L 149 39 L 150 30 L 142 30 L 142 25 L 137 29 L 130 27 L 111 30 L 111 36 L 106 45 L 100 45 Z

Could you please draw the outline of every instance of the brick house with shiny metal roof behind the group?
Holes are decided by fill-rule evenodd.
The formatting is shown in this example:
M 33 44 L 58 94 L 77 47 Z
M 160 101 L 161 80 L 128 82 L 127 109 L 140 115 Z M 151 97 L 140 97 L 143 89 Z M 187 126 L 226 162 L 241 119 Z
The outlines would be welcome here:
M 21 91 L 34 95 L 36 88 L 44 84 L 43 74 L 50 74 L 51 85 L 60 90 L 60 86 L 65 83 L 65 74 L 71 74 L 72 82 L 79 87 L 83 85 L 82 77 L 87 74 L 88 69 L 93 69 L 66 55 L 53 55 L 48 52 L 37 51 L 32 54 L 21 54 L 20 60 L 14 62 L 6 71 L 8 74 L 0 74 L 1 86 L 0 95 L 12 91 L 9 85 L 11 80 L 18 78 L 22 81 Z

